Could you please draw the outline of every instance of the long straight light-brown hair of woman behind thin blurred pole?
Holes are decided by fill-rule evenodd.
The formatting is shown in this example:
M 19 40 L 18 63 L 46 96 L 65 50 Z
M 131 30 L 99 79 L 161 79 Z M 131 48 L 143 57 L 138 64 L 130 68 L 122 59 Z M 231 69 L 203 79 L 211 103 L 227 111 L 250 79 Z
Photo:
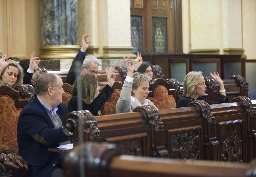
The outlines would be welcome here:
M 95 99 L 98 87 L 98 78 L 94 74 L 83 74 L 81 77 L 78 77 L 73 84 L 72 97 L 78 96 L 78 81 L 81 84 L 81 96 L 82 100 L 86 104 L 91 104 Z

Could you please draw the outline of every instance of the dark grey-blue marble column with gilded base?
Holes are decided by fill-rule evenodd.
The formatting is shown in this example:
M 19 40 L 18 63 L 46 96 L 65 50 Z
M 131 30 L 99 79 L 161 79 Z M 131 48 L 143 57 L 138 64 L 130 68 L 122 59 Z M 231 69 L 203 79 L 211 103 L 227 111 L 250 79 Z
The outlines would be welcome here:
M 73 59 L 80 46 L 77 0 L 41 0 L 40 59 Z

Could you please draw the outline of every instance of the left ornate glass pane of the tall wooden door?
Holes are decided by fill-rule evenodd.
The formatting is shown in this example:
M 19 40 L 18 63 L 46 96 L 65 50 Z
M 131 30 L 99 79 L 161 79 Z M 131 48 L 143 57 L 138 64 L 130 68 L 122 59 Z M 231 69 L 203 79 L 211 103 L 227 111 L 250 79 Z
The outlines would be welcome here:
M 142 16 L 131 15 L 131 45 L 132 53 L 143 53 L 142 47 Z

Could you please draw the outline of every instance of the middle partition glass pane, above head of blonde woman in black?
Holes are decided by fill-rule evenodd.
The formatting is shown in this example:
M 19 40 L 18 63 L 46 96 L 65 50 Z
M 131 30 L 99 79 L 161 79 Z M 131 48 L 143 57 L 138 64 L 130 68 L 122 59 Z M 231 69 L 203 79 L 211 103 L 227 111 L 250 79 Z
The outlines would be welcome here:
M 193 63 L 194 71 L 202 71 L 203 76 L 210 76 L 210 72 L 217 72 L 217 63 Z

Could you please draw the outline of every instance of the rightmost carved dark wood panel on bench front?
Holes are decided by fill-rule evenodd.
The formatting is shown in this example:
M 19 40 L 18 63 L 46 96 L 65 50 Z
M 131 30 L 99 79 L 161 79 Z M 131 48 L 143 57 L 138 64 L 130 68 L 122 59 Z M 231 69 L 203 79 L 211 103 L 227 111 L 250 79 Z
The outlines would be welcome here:
M 246 162 L 245 121 L 232 120 L 217 123 L 217 136 L 221 148 L 221 160 L 227 162 Z

